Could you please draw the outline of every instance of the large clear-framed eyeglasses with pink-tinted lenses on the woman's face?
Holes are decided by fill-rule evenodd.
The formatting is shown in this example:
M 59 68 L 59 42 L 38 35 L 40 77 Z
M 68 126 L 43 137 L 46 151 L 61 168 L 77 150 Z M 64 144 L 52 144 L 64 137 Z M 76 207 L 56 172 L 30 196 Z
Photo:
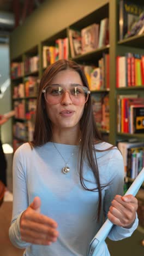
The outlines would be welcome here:
M 74 104 L 85 104 L 91 93 L 87 87 L 81 85 L 71 86 L 67 90 L 59 85 L 49 85 L 42 92 L 45 95 L 45 100 L 49 104 L 61 102 L 65 92 L 69 93 L 69 97 Z

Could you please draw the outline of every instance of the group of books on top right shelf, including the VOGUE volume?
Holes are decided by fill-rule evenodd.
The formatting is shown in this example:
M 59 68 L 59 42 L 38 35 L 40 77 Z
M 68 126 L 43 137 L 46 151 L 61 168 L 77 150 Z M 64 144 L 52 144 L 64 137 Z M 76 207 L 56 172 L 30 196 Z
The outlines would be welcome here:
M 144 33 L 144 4 L 119 1 L 119 40 Z

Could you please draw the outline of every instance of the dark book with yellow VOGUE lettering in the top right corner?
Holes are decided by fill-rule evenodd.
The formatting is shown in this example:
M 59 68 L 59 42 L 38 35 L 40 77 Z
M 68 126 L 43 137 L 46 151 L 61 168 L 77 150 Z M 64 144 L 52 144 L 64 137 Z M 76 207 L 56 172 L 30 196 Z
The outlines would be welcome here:
M 133 3 L 127 0 L 119 2 L 119 40 L 122 40 L 125 34 L 130 31 L 131 26 L 143 11 L 143 5 Z

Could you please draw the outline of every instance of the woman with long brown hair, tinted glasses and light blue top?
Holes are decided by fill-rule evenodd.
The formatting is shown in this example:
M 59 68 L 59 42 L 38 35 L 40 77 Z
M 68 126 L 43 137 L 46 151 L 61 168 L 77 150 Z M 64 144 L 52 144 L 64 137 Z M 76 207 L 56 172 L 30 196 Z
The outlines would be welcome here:
M 102 142 L 85 75 L 73 61 L 47 67 L 40 82 L 34 139 L 14 155 L 11 242 L 24 255 L 87 255 L 103 224 L 121 240 L 137 227 L 137 200 L 123 193 L 123 159 Z M 110 255 L 101 243 L 98 256 Z

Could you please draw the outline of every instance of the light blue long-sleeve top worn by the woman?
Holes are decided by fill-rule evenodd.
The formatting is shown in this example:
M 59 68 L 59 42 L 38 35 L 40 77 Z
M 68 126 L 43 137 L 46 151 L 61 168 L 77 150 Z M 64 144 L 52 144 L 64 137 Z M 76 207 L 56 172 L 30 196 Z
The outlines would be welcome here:
M 65 162 L 69 159 L 68 174 L 62 173 L 65 162 L 52 142 L 33 150 L 25 143 L 16 150 L 13 162 L 13 216 L 9 237 L 16 247 L 26 248 L 24 255 L 27 256 L 86 256 L 89 243 L 103 224 L 113 197 L 123 194 L 123 158 L 117 148 L 96 152 L 100 183 L 103 185 L 111 182 L 101 191 L 101 214 L 100 222 L 97 223 L 98 192 L 87 191 L 80 184 L 77 168 L 79 146 L 55 145 Z M 103 150 L 110 146 L 101 142 L 95 148 Z M 94 188 L 93 172 L 86 162 L 83 176 L 88 180 L 85 182 L 87 187 Z M 58 223 L 59 237 L 50 246 L 32 245 L 21 240 L 20 217 L 35 196 L 41 199 L 41 213 Z M 136 217 L 130 229 L 114 225 L 109 238 L 121 240 L 131 236 L 137 224 Z M 110 255 L 105 242 L 99 246 L 97 255 Z

